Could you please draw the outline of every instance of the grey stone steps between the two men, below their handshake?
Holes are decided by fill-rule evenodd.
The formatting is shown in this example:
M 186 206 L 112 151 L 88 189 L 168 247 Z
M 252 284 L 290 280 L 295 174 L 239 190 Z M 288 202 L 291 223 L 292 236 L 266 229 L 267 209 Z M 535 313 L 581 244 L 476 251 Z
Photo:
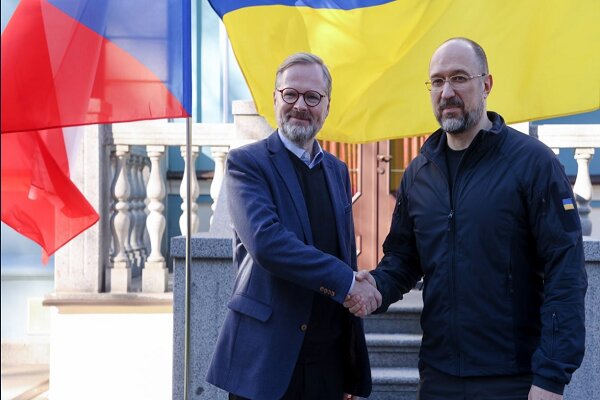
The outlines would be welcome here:
M 373 380 L 370 400 L 416 398 L 422 309 L 421 292 L 413 290 L 386 313 L 364 319 Z

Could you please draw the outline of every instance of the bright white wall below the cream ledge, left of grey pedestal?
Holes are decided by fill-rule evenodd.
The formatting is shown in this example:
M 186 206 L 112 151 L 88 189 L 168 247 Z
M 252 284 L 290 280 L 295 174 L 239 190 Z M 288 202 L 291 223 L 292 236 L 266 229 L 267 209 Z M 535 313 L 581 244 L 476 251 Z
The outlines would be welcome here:
M 50 399 L 169 399 L 172 307 L 52 307 L 50 359 Z

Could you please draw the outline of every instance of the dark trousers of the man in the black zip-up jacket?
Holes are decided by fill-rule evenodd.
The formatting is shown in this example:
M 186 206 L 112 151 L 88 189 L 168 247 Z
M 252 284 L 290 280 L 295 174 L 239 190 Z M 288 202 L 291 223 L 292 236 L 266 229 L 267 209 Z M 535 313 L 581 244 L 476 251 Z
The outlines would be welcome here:
M 417 400 L 527 400 L 533 376 L 457 377 L 419 362 Z

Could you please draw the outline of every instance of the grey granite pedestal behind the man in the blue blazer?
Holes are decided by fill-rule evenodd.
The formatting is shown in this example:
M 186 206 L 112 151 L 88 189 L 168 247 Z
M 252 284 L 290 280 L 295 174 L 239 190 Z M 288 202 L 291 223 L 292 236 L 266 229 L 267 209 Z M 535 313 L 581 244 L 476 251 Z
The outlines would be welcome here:
M 231 239 L 192 238 L 188 399 L 227 399 L 205 381 L 208 365 L 225 320 L 235 270 Z M 183 399 L 185 338 L 185 237 L 171 241 L 173 282 L 173 400 Z

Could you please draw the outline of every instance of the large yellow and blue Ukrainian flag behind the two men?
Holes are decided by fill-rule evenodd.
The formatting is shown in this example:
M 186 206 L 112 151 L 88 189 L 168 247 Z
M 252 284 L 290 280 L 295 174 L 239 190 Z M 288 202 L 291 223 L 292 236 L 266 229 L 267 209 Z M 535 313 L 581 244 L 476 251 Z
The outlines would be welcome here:
M 290 54 L 320 56 L 333 77 L 321 139 L 429 134 L 429 61 L 447 39 L 486 51 L 488 107 L 508 123 L 600 108 L 598 0 L 210 0 L 259 112 L 275 126 L 273 85 Z

